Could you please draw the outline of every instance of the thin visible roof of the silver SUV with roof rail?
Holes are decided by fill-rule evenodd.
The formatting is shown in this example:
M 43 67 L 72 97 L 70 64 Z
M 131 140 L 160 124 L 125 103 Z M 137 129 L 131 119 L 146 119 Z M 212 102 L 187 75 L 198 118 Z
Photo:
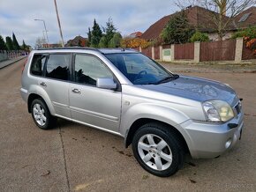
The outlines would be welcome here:
M 74 51 L 74 50 L 91 50 L 91 51 L 97 51 L 102 54 L 117 54 L 117 53 L 138 53 L 138 51 L 132 49 L 132 48 L 87 48 L 87 47 L 68 47 L 68 48 L 38 48 L 34 49 L 34 51 L 43 51 L 43 52 L 53 52 L 53 51 L 61 51 L 61 50 L 69 50 L 69 51 Z

